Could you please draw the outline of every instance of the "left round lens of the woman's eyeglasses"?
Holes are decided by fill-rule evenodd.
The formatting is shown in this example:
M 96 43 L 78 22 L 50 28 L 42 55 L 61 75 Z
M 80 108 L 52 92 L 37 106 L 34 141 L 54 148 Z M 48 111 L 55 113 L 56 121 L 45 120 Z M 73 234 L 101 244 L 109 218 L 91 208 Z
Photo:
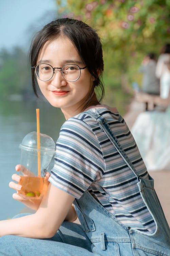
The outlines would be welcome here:
M 48 64 L 39 64 L 35 69 L 36 75 L 42 81 L 48 81 L 53 76 L 53 68 Z

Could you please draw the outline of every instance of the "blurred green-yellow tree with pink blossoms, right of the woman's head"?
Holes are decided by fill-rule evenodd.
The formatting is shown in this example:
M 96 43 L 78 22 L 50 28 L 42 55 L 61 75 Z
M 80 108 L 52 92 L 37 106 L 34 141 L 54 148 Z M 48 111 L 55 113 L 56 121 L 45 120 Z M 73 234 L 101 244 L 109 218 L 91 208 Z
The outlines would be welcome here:
M 170 39 L 170 0 L 56 1 L 64 17 L 77 18 L 97 28 L 104 50 L 105 101 L 125 110 L 132 82 L 140 84 L 138 68 L 148 52 L 158 56 Z

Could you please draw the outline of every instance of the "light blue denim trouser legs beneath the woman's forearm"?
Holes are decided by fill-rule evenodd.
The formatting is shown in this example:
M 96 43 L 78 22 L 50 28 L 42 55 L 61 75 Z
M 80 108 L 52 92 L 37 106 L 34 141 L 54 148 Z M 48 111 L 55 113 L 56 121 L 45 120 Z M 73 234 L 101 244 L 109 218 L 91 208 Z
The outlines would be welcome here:
M 22 217 L 27 214 L 18 214 Z M 72 222 L 63 222 L 54 237 L 50 239 L 33 239 L 19 236 L 0 238 L 0 256 L 75 256 L 92 255 L 91 242 L 82 226 Z

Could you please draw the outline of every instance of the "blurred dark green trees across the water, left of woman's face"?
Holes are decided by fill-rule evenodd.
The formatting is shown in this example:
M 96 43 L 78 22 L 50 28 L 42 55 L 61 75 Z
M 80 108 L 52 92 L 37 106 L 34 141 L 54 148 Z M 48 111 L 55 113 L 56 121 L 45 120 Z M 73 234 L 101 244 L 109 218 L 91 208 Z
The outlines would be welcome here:
M 13 94 L 26 96 L 31 93 L 31 78 L 27 54 L 19 47 L 12 52 L 2 49 L 0 52 L 0 95 Z

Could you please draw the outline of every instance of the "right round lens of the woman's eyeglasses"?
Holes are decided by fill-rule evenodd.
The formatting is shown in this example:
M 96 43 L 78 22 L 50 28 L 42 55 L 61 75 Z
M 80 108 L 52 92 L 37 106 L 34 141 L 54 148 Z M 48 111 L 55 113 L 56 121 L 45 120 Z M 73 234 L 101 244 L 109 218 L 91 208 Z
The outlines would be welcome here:
M 67 81 L 74 82 L 80 77 L 80 68 L 74 64 L 67 64 L 62 68 L 62 74 Z

